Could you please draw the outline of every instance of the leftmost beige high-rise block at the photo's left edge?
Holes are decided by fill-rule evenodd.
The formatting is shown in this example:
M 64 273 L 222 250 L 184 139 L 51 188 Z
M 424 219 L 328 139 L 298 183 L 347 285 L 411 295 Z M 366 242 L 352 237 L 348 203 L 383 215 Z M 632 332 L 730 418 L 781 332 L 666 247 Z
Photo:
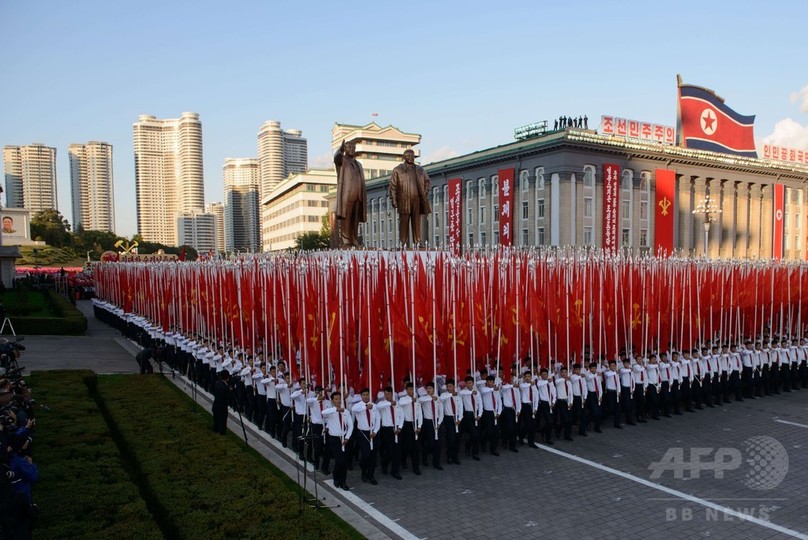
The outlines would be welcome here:
M 3 148 L 6 206 L 32 213 L 58 209 L 56 203 L 56 148 L 34 143 Z

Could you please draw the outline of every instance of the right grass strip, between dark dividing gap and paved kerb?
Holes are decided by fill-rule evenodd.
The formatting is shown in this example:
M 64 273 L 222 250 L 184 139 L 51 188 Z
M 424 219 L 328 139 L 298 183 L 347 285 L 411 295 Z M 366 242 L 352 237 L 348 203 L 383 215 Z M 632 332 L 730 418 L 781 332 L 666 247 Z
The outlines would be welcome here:
M 301 516 L 296 484 L 232 433 L 215 435 L 210 414 L 170 381 L 103 375 L 97 392 L 141 493 L 179 537 L 361 538 L 328 510 Z

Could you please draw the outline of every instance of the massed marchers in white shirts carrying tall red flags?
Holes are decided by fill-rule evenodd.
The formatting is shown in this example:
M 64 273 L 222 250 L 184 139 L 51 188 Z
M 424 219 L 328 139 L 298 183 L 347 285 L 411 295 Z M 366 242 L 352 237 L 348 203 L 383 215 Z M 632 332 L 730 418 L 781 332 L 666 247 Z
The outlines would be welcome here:
M 349 489 L 355 459 L 375 484 L 378 458 L 401 479 L 806 388 L 807 270 L 580 248 L 103 263 L 95 308 L 201 389 L 229 375 L 234 410 Z

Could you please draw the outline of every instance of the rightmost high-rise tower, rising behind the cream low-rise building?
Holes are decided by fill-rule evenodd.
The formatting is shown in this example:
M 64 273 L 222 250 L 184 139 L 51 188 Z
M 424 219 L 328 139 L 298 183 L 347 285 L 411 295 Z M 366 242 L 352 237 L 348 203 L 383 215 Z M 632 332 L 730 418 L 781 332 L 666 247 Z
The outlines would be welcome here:
M 264 122 L 258 130 L 258 162 L 261 195 L 268 195 L 292 173 L 308 168 L 308 143 L 299 129 L 281 129 L 277 120 Z

